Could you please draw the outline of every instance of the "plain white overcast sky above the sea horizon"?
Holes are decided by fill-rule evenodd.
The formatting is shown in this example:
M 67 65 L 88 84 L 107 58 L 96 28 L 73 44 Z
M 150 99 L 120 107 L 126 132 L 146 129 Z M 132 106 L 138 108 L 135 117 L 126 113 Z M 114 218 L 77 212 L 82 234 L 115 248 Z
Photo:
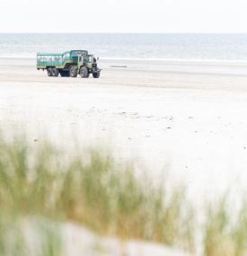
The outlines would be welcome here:
M 247 0 L 0 0 L 0 32 L 247 32 Z

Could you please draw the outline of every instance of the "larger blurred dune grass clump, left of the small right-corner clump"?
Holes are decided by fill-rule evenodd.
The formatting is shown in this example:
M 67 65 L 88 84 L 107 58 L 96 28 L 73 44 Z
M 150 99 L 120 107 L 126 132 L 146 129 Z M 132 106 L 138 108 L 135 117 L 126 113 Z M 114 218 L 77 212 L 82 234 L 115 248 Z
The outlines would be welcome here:
M 136 177 L 131 166 L 117 165 L 100 150 L 67 159 L 48 143 L 35 145 L 23 137 L 0 139 L 1 255 L 14 255 L 9 247 L 29 255 L 20 249 L 22 232 L 14 233 L 20 234 L 11 239 L 14 246 L 5 235 L 27 216 L 73 221 L 97 234 L 192 251 L 193 216 L 183 188 L 168 190 L 165 181 L 157 186 L 145 175 Z

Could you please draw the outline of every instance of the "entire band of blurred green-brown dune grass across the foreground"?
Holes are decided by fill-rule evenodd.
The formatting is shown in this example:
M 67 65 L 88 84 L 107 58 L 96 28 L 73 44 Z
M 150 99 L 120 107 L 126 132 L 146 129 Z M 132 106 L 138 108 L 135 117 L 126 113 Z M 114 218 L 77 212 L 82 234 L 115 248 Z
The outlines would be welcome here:
M 154 184 L 145 174 L 137 177 L 131 165 L 118 165 L 97 149 L 67 157 L 48 143 L 1 137 L 0 255 L 27 256 L 31 250 L 39 256 L 63 255 L 59 229 L 53 225 L 36 225 L 39 238 L 35 234 L 32 241 L 25 220 L 33 217 L 194 252 L 196 211 L 183 187 L 171 188 L 168 181 Z M 246 203 L 232 216 L 227 199 L 220 199 L 201 215 L 205 256 L 246 255 Z

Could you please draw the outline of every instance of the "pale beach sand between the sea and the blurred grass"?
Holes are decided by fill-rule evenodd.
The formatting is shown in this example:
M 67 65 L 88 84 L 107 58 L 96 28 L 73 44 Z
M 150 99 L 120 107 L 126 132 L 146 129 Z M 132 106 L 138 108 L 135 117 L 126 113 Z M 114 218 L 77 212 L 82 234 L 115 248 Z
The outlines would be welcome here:
M 102 59 L 100 79 L 48 77 L 32 58 L 0 58 L 0 125 L 66 147 L 107 146 L 192 199 L 247 182 L 247 64 Z M 166 174 L 165 174 L 166 175 Z

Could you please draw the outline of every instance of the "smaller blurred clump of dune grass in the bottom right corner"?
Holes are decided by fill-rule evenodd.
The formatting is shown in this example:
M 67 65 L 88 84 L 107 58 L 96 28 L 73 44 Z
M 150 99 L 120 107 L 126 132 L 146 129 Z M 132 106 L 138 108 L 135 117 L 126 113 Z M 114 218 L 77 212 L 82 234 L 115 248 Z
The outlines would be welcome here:
M 234 209 L 227 197 L 207 206 L 204 227 L 205 256 L 247 255 L 247 204 Z

